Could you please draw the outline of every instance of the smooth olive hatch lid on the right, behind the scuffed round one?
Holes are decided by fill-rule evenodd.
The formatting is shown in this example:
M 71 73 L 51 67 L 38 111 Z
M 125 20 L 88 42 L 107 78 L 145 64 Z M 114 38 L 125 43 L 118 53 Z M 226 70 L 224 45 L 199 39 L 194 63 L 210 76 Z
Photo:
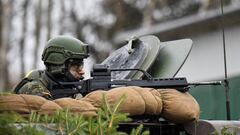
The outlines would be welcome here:
M 148 72 L 154 78 L 174 77 L 191 51 L 192 40 L 181 39 L 161 42 L 160 46 L 162 48 L 159 50 L 158 56 Z

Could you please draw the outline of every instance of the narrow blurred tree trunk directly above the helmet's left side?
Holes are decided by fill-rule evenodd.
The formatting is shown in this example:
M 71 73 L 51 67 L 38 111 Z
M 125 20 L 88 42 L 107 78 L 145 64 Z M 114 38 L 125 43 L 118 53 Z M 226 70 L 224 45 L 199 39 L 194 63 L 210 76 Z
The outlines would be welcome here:
M 53 1 L 48 0 L 47 40 L 51 38 L 51 33 L 52 33 L 52 7 L 53 7 Z

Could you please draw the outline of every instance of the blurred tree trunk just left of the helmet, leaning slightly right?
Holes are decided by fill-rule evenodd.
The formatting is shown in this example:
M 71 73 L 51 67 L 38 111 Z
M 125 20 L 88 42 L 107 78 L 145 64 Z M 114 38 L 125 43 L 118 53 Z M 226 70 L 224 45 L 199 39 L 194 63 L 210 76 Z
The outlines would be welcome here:
M 40 47 L 41 21 L 42 21 L 42 0 L 35 5 L 35 47 L 33 54 L 33 69 L 37 68 L 38 53 Z

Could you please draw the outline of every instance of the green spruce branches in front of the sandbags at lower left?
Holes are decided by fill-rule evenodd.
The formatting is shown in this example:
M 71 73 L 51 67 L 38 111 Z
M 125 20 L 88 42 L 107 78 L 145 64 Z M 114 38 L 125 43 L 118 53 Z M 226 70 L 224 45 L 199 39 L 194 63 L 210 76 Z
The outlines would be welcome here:
M 126 135 L 117 131 L 119 122 L 131 120 L 127 114 L 119 112 L 124 99 L 125 96 L 122 96 L 111 106 L 104 96 L 96 117 L 84 117 L 68 109 L 59 110 L 54 115 L 33 112 L 28 118 L 16 113 L 3 113 L 0 117 L 0 135 Z M 142 130 L 143 125 L 133 129 L 131 135 L 149 134 Z

